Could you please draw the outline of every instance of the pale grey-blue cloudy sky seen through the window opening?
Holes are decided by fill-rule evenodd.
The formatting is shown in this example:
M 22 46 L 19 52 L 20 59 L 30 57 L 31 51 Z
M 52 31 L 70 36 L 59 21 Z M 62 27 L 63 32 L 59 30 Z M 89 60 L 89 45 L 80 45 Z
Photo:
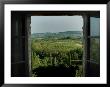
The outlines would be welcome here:
M 82 31 L 82 16 L 31 16 L 31 33 Z

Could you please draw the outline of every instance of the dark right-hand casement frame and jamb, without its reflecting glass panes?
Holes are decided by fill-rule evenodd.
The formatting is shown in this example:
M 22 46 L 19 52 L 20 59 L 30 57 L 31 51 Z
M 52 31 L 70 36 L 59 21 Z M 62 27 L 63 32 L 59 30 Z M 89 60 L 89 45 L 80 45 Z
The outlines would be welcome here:
M 84 34 L 84 57 L 83 57 L 83 75 L 86 77 L 99 77 L 100 76 L 100 62 L 97 63 L 94 60 L 91 60 L 91 38 L 99 38 L 93 37 L 90 35 L 91 28 L 90 28 L 90 17 L 98 17 L 99 16 L 91 16 L 91 15 L 83 15 L 84 18 L 84 27 L 83 27 L 83 34 Z M 100 45 L 100 42 L 99 42 Z M 100 53 L 99 53 L 100 54 Z M 100 55 L 98 56 L 100 60 Z

